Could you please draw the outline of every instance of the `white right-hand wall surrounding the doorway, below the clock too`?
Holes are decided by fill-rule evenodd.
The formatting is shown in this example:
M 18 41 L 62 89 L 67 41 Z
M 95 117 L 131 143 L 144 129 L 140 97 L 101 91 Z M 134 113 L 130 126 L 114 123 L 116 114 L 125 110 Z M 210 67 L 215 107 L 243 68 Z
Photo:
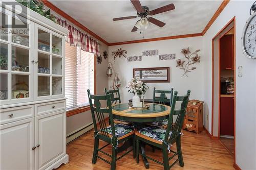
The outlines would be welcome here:
M 247 59 L 242 53 L 243 27 L 249 18 L 253 1 L 230 1 L 203 36 L 205 56 L 204 101 L 205 114 L 209 114 L 211 132 L 211 39 L 236 16 L 236 69 L 243 66 L 243 77 L 236 74 L 236 163 L 242 169 L 256 169 L 256 60 Z M 237 71 L 238 72 L 238 71 Z

